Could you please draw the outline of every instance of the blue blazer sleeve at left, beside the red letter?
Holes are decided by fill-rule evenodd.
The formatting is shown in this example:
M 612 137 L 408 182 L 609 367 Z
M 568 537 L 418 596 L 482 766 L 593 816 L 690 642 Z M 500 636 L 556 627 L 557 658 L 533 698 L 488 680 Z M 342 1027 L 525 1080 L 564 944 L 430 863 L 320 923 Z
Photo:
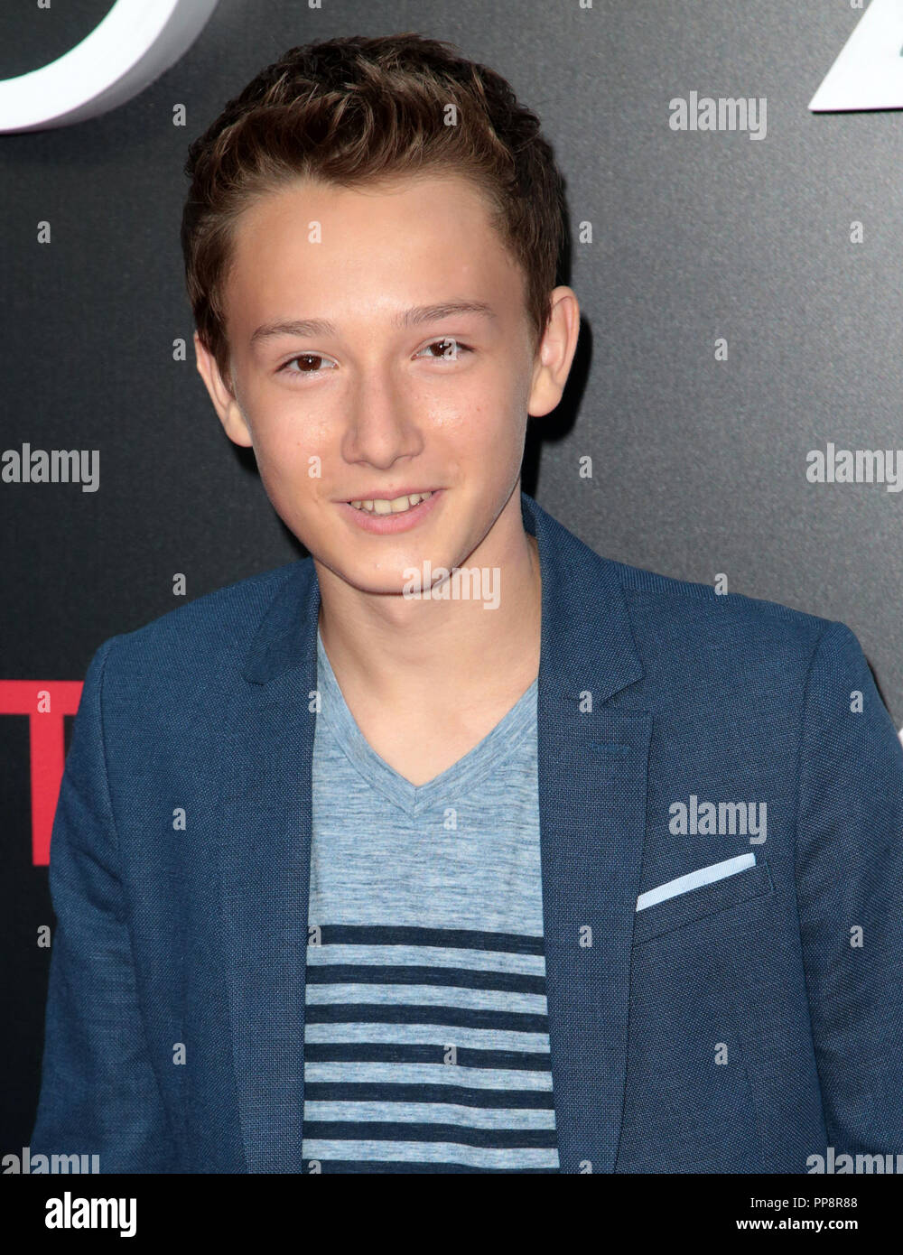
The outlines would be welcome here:
M 136 989 L 103 742 L 113 636 L 94 654 L 50 838 L 51 941 L 30 1153 L 99 1155 L 100 1172 L 172 1172 L 176 1148 Z

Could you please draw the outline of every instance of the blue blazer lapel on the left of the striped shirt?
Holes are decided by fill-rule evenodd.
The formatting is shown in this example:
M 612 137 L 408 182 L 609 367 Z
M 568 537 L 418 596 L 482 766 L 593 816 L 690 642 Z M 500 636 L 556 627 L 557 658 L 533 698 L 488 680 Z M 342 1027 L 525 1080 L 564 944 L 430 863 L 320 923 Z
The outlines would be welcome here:
M 220 902 L 249 1172 L 303 1172 L 304 1001 L 319 584 L 293 563 L 224 729 Z

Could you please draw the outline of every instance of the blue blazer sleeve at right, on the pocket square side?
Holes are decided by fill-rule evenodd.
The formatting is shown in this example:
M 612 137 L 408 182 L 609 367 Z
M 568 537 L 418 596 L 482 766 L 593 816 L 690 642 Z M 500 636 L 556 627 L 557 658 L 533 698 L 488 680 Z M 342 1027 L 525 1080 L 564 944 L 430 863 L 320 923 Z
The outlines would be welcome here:
M 903 1153 L 903 747 L 839 622 L 810 664 L 799 788 L 796 899 L 828 1145 Z

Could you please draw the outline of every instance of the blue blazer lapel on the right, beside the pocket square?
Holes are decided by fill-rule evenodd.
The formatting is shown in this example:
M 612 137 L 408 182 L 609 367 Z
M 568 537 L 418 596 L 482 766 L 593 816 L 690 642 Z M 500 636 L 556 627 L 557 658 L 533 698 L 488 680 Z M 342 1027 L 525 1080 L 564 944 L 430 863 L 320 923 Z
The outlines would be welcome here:
M 539 811 L 559 1163 L 613 1172 L 652 717 L 604 705 L 643 674 L 613 563 L 526 494 L 521 507 L 543 570 Z

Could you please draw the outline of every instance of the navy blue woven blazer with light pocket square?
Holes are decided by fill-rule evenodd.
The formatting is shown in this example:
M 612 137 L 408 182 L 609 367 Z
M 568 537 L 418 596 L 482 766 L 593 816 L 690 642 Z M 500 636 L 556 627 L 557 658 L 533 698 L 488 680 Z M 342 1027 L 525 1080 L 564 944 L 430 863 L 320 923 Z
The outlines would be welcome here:
M 521 508 L 561 1171 L 903 1152 L 903 749 L 855 636 Z M 53 828 L 33 1158 L 306 1170 L 318 607 L 305 558 L 92 659 Z

